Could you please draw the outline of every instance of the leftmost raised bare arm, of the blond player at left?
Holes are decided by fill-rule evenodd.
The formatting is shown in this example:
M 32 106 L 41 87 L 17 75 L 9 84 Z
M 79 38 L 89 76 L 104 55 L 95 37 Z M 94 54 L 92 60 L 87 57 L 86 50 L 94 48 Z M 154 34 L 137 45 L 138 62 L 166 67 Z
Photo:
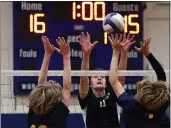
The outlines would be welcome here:
M 55 50 L 54 46 L 50 44 L 50 41 L 46 36 L 42 36 L 42 42 L 44 45 L 45 53 L 44 53 L 42 66 L 40 69 L 38 84 L 42 84 L 47 81 L 47 73 L 48 73 L 50 58 L 51 58 L 52 53 Z

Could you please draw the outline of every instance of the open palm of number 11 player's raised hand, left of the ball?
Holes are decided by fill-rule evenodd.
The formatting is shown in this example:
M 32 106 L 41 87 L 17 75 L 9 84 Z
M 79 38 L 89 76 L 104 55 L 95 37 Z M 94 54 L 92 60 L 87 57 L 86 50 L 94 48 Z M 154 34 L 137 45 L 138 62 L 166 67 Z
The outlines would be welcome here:
M 90 54 L 92 49 L 95 47 L 95 45 L 98 43 L 98 41 L 95 41 L 93 44 L 90 42 L 90 34 L 86 32 L 86 35 L 82 32 L 80 37 L 79 44 L 81 45 L 81 48 L 84 53 Z

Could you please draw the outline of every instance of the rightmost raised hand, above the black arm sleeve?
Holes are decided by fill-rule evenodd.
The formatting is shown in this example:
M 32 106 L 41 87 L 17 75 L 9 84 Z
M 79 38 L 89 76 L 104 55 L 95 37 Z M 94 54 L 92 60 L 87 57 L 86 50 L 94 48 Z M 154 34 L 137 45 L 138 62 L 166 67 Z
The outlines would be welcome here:
M 148 56 L 148 55 L 150 54 L 150 50 L 149 50 L 150 41 L 151 41 L 151 37 L 147 37 L 147 38 L 145 38 L 145 40 L 144 40 L 143 43 L 140 42 L 140 45 L 141 45 L 140 48 L 134 47 L 134 49 L 135 49 L 137 52 L 141 52 L 141 53 L 143 53 L 145 56 Z

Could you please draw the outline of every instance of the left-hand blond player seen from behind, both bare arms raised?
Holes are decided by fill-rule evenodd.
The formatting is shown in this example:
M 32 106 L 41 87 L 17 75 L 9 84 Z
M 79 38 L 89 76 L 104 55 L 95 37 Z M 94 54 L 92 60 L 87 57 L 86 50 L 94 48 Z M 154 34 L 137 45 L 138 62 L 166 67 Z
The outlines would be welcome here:
M 29 96 L 28 125 L 29 128 L 65 128 L 69 114 L 71 89 L 71 64 L 69 43 L 58 38 L 58 48 L 50 44 L 47 37 L 42 37 L 44 58 L 38 78 L 38 85 Z M 63 88 L 54 81 L 47 82 L 47 73 L 52 53 L 57 51 L 63 55 Z

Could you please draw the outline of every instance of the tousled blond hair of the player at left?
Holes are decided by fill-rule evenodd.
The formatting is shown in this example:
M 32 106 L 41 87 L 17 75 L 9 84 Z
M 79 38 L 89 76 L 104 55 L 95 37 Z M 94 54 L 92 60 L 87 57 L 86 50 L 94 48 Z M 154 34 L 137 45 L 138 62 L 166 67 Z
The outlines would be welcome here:
M 29 107 L 36 115 L 46 115 L 60 101 L 62 88 L 55 81 L 37 85 L 29 95 Z

